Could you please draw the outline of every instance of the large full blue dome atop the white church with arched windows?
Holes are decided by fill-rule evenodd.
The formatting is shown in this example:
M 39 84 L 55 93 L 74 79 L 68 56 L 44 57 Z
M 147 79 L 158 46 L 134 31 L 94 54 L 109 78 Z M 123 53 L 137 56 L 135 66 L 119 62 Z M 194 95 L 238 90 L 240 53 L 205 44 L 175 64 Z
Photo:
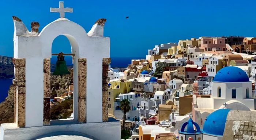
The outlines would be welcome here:
M 224 67 L 220 69 L 214 79 L 214 82 L 249 82 L 247 74 L 238 67 Z

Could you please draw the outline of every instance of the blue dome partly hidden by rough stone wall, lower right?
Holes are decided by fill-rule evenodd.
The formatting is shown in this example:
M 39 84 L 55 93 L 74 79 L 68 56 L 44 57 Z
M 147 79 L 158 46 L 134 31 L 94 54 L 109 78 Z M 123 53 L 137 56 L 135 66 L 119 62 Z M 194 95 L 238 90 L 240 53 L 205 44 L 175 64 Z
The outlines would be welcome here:
M 204 121 L 203 132 L 222 136 L 229 111 L 230 109 L 218 109 L 212 112 Z

